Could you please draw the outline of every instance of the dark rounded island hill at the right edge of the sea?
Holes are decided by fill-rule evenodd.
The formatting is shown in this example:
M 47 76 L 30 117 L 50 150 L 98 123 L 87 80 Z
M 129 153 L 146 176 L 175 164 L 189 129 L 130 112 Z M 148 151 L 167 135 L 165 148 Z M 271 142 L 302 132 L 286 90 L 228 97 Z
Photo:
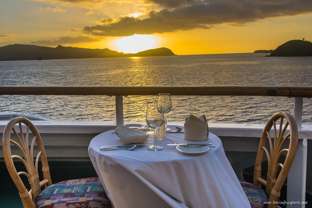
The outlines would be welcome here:
M 312 56 L 312 43 L 307 40 L 290 40 L 267 56 Z

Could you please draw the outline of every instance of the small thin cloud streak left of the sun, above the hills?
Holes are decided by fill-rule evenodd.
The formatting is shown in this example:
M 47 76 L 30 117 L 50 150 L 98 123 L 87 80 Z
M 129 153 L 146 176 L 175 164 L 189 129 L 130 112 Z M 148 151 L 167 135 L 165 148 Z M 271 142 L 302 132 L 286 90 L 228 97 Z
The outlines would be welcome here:
M 55 46 L 55 45 L 64 45 L 64 44 L 72 44 L 72 43 L 83 43 L 83 42 L 95 42 L 100 41 L 99 38 L 93 38 L 86 35 L 78 35 L 78 36 L 66 36 L 53 40 L 36 40 L 30 41 L 27 44 L 33 45 L 45 45 L 45 46 Z

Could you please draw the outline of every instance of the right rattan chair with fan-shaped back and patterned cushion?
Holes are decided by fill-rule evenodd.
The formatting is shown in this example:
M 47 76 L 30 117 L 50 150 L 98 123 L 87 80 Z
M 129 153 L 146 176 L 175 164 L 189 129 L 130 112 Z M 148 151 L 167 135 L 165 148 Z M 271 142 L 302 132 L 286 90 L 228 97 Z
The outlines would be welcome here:
M 279 128 L 276 129 L 276 126 Z M 273 132 L 270 132 L 272 127 Z M 290 132 L 284 136 L 286 131 Z M 273 140 L 271 136 L 273 137 Z M 266 149 L 267 139 L 270 146 L 269 150 Z M 288 140 L 289 144 L 288 142 L 286 143 Z M 253 184 L 241 181 L 241 185 L 251 204 L 251 207 L 267 206 L 268 208 L 271 208 L 278 206 L 276 202 L 279 201 L 280 190 L 295 158 L 297 144 L 298 128 L 294 117 L 289 113 L 282 111 L 275 113 L 267 122 L 261 135 L 256 163 L 254 166 Z M 287 148 L 283 149 L 285 146 L 287 146 Z M 261 162 L 264 153 L 266 153 L 268 160 L 266 180 L 261 178 Z M 280 162 L 280 156 L 282 154 L 286 154 L 283 164 Z M 279 170 L 280 172 L 278 174 Z M 265 187 L 265 191 L 261 189 L 261 185 Z

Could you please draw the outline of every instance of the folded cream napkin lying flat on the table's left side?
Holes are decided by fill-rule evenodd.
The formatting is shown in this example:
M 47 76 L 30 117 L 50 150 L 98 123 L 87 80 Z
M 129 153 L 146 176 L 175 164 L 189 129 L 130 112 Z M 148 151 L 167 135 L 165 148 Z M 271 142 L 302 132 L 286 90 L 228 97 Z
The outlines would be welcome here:
M 115 129 L 116 135 L 121 139 L 122 144 L 144 143 L 149 136 L 144 131 L 131 129 L 127 126 L 120 125 Z

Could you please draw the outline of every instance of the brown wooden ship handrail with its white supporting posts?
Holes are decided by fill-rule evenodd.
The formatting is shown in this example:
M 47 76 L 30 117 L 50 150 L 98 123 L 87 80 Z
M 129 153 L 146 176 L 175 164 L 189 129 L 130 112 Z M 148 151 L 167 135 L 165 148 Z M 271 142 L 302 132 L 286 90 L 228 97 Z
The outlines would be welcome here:
M 123 97 L 128 95 L 175 96 L 280 96 L 295 97 L 294 117 L 301 126 L 303 97 L 312 97 L 312 87 L 296 86 L 0 86 L 1 95 L 108 95 L 115 96 L 116 124 L 124 123 Z

